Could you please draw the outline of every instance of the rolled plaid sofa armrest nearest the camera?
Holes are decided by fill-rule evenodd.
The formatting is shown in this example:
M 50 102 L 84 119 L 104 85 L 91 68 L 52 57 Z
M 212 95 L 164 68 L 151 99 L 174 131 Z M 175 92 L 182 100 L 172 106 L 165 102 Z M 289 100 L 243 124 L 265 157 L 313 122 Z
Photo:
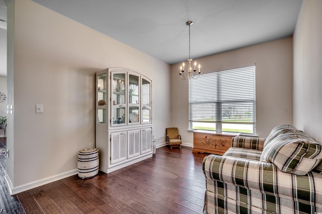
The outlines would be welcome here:
M 206 183 L 219 181 L 277 197 L 322 207 L 322 175 L 295 175 L 280 171 L 272 163 L 209 155 L 202 164 Z M 207 188 L 208 190 L 208 188 Z

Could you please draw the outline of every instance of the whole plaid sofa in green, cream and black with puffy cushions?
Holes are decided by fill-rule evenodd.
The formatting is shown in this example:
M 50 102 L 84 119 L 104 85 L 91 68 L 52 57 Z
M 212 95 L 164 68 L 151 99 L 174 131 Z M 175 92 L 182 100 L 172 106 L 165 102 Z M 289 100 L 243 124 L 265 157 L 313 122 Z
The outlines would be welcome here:
M 322 145 L 289 125 L 203 160 L 204 213 L 322 213 Z

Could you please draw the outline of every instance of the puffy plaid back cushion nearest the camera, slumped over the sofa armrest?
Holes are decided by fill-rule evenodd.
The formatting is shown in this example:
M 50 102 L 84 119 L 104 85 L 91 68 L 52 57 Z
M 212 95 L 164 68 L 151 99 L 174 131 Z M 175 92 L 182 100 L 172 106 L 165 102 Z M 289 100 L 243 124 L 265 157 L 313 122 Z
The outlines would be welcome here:
M 322 159 L 322 145 L 301 131 L 282 133 L 264 147 L 261 162 L 273 163 L 283 172 L 305 175 Z

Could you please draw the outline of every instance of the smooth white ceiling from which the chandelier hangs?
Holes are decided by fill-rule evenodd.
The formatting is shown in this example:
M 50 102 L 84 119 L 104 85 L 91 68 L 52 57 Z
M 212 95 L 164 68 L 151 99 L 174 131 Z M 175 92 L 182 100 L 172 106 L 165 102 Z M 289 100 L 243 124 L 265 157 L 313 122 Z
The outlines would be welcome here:
M 302 0 L 33 1 L 169 64 L 188 59 L 187 21 L 194 23 L 191 58 L 199 58 L 292 36 L 302 4 Z

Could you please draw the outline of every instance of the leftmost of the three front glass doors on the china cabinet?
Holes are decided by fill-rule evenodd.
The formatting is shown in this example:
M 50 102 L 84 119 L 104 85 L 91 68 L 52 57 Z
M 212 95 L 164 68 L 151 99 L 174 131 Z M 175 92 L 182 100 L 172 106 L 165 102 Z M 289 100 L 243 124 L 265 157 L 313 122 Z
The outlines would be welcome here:
M 111 125 L 126 124 L 126 73 L 112 72 L 111 82 Z

